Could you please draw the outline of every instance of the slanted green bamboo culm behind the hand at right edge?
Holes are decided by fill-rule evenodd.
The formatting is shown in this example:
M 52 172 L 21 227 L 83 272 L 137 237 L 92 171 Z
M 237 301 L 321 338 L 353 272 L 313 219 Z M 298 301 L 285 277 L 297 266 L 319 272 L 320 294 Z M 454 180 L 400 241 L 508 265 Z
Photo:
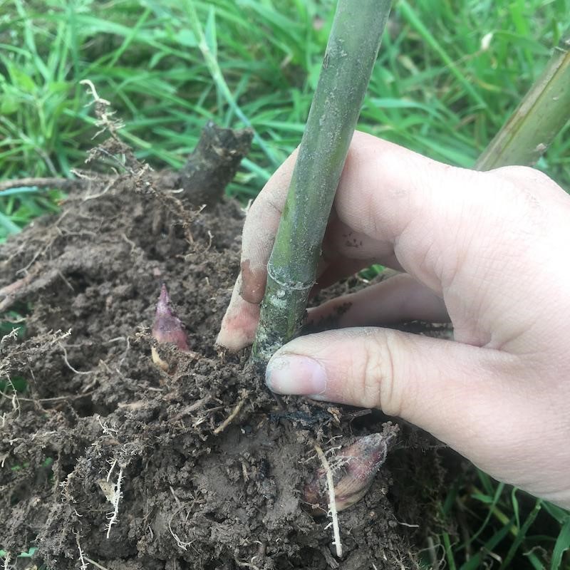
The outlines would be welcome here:
M 534 166 L 570 118 L 570 28 L 541 76 L 482 152 L 476 170 Z

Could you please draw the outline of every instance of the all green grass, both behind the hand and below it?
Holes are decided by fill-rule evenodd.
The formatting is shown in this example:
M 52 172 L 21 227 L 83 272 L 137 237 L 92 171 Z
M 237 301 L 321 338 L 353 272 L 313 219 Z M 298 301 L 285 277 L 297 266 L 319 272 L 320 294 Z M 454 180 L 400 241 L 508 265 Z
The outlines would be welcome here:
M 208 119 L 251 125 L 252 153 L 228 192 L 244 202 L 257 195 L 301 138 L 333 1 L 196 1 L 208 61 L 181 6 L 0 0 L 0 177 L 70 176 L 81 167 L 95 128 L 79 81 L 90 79 L 125 121 L 125 140 L 155 167 L 180 167 Z M 570 0 L 395 1 L 360 128 L 473 165 L 569 14 Z M 538 165 L 566 189 L 568 135 L 566 125 Z M 61 197 L 34 188 L 0 195 L 0 240 L 53 212 Z M 457 482 L 442 504 L 443 520 L 457 509 L 467 520 L 463 534 L 450 528 L 435 538 L 447 566 L 570 567 L 566 512 L 477 477 L 476 486 Z

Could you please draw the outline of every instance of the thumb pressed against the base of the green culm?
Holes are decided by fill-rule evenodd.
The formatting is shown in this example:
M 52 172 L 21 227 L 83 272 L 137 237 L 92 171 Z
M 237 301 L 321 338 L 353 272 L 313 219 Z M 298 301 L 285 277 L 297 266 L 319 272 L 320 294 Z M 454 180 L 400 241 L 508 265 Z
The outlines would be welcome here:
M 381 408 L 423 427 L 492 475 L 560 500 L 557 493 L 567 492 L 570 420 L 553 413 L 532 382 L 520 380 L 525 374 L 528 363 L 501 351 L 349 328 L 286 344 L 269 361 L 266 383 L 281 394 Z M 544 465 L 540 477 L 525 480 L 537 465 Z

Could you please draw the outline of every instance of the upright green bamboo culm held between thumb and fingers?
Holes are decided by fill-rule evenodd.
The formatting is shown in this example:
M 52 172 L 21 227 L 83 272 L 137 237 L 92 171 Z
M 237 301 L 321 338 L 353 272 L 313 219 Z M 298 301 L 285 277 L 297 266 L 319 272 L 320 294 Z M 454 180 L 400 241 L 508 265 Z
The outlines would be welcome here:
M 389 0 L 339 0 L 321 75 L 267 264 L 252 351 L 264 366 L 299 334 L 316 264 L 390 12 Z

